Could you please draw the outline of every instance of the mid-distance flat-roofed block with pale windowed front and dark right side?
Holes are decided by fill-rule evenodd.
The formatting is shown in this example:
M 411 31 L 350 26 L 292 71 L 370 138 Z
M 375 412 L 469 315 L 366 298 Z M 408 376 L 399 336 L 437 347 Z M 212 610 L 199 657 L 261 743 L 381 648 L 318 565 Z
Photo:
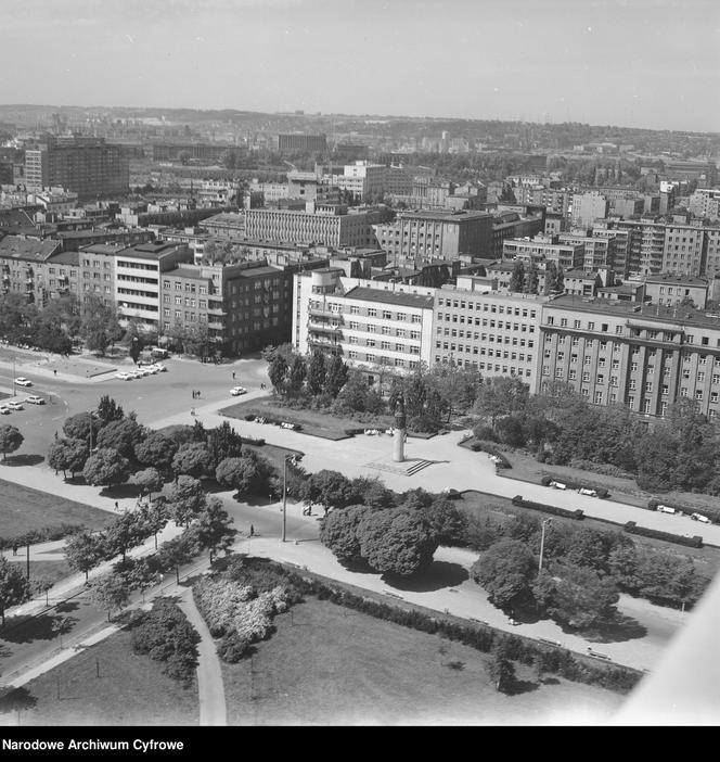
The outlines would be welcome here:
M 377 243 L 396 263 L 489 256 L 492 216 L 487 212 L 403 212 L 375 227 Z

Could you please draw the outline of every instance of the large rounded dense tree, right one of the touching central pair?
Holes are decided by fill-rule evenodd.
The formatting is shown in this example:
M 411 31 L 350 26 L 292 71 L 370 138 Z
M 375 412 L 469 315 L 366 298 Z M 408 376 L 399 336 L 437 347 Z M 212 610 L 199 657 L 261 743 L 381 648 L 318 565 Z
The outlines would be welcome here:
M 437 538 L 416 512 L 388 508 L 367 516 L 358 528 L 360 551 L 381 573 L 409 576 L 433 563 Z

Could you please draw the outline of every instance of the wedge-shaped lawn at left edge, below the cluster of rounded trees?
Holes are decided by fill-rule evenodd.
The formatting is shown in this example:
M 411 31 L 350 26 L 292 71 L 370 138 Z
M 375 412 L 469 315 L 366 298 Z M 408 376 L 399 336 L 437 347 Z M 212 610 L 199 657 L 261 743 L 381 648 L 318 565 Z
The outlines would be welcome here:
M 66 500 L 48 492 L 31 490 L 0 479 L 0 539 L 23 535 L 62 523 L 100 529 L 113 517 L 92 506 Z

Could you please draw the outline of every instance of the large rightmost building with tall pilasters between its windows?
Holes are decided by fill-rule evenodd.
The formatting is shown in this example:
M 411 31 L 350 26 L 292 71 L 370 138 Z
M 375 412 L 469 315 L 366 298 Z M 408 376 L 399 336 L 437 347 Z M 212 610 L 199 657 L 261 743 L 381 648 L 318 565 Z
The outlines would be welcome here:
M 680 398 L 720 408 L 720 321 L 687 307 L 558 296 L 544 305 L 541 371 L 596 405 L 664 416 Z

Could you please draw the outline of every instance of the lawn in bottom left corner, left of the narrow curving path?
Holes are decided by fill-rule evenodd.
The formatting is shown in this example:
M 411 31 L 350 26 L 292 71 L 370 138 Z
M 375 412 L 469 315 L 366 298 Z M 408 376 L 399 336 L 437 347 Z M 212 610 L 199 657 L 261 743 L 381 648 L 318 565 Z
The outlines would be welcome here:
M 133 653 L 127 631 L 91 646 L 24 688 L 31 708 L 21 713 L 21 725 L 185 726 L 197 725 L 200 716 L 196 681 L 185 689 L 164 675 L 158 662 Z M 0 700 L 3 711 L 7 701 Z M 0 725 L 16 722 L 16 712 L 0 713 Z

